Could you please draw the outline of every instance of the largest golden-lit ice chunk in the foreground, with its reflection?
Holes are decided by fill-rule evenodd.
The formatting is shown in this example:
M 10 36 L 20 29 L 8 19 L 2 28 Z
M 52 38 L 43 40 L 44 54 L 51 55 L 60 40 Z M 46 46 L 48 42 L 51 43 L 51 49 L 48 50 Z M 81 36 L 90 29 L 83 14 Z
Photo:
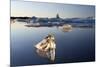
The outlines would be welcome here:
M 39 56 L 50 59 L 51 61 L 55 60 L 55 38 L 53 35 L 46 36 L 41 42 L 39 42 L 36 47 L 36 52 Z

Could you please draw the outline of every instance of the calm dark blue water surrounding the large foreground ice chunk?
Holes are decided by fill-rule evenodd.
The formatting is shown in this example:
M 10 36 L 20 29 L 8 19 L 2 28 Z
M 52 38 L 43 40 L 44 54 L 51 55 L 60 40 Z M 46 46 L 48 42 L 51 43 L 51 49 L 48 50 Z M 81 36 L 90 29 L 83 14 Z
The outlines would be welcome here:
M 11 24 L 11 66 L 85 62 L 95 60 L 95 29 L 72 28 L 64 32 L 59 27 L 26 27 L 26 23 Z M 34 47 L 49 33 L 56 41 L 55 60 L 41 57 Z

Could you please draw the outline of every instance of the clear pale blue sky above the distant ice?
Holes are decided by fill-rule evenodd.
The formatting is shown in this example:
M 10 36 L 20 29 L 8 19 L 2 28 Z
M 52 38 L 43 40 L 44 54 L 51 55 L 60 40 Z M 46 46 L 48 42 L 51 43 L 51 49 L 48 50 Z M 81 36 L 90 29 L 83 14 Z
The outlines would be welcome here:
M 11 1 L 11 16 L 15 17 L 56 17 L 61 18 L 86 18 L 95 17 L 95 6 L 45 3 L 34 1 Z

